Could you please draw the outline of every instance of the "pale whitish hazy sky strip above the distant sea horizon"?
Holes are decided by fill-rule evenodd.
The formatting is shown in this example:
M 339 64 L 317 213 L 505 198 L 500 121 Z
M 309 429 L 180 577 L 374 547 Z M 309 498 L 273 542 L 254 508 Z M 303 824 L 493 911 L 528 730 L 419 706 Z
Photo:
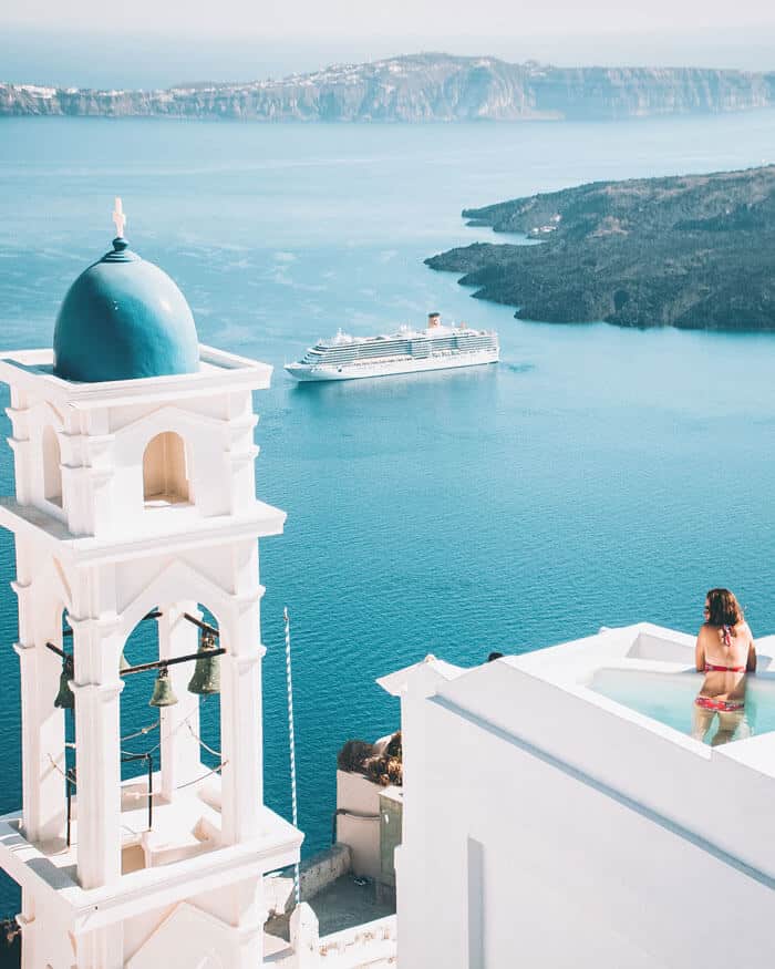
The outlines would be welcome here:
M 720 32 L 744 24 L 775 24 L 767 0 L 25 0 L 3 3 L 7 22 L 86 29 L 120 27 L 167 32 L 258 37 L 428 34 L 497 37 L 564 33 Z M 13 8 L 13 9 L 11 9 Z M 0 18 L 2 14 L 0 14 Z M 754 39 L 754 38 L 752 38 Z

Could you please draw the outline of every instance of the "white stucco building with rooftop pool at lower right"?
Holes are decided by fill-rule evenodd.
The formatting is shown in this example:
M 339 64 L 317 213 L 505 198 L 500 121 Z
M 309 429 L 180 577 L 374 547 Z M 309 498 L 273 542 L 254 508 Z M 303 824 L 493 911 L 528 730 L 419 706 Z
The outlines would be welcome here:
M 760 732 L 715 748 L 660 722 L 689 722 L 701 674 L 693 638 L 645 623 L 380 680 L 401 698 L 401 969 L 773 965 L 775 638 L 758 646 Z

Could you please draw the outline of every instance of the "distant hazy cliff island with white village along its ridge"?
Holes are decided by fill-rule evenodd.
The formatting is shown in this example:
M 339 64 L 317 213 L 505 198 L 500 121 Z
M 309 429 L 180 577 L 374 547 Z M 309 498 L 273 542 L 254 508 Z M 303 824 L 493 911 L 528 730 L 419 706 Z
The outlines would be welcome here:
M 775 106 L 775 72 L 556 68 L 422 53 L 282 80 L 163 91 L 0 83 L 0 116 L 244 121 L 588 121 Z

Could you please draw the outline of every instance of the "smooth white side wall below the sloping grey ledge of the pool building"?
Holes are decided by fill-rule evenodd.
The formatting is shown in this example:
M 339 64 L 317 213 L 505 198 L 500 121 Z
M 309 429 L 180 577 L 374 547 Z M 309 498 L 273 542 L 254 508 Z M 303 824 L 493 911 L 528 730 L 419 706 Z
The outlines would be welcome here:
M 775 955 L 772 888 L 440 704 L 423 726 L 399 854 L 401 969 L 722 969 Z M 480 890 L 477 959 L 469 893 Z M 719 898 L 734 930 L 707 930 Z

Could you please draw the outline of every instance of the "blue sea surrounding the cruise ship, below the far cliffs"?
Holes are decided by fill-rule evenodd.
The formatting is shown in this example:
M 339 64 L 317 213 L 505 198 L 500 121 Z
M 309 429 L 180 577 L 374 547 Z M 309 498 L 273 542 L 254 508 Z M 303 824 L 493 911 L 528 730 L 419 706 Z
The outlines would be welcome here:
M 399 725 L 396 701 L 374 683 L 383 673 L 428 652 L 478 663 L 601 625 L 693 630 L 715 585 L 737 591 L 754 632 L 775 631 L 775 336 L 521 322 L 422 261 L 508 240 L 467 228 L 464 206 L 774 157 L 773 112 L 424 126 L 0 121 L 3 349 L 51 346 L 69 285 L 110 247 L 121 195 L 127 237 L 177 280 L 200 340 L 276 368 L 256 398 L 257 491 L 288 512 L 286 534 L 261 545 L 266 797 L 289 813 L 287 605 L 307 853 L 330 841 L 338 749 Z M 282 370 L 339 327 L 374 334 L 431 310 L 497 329 L 500 364 L 307 386 Z M 4 444 L 0 484 L 12 492 Z M 13 571 L 3 534 L 3 812 L 21 797 Z M 146 658 L 147 636 L 132 649 Z M 127 732 L 153 719 L 153 678 L 132 680 Z M 9 886 L 0 914 L 16 910 Z

